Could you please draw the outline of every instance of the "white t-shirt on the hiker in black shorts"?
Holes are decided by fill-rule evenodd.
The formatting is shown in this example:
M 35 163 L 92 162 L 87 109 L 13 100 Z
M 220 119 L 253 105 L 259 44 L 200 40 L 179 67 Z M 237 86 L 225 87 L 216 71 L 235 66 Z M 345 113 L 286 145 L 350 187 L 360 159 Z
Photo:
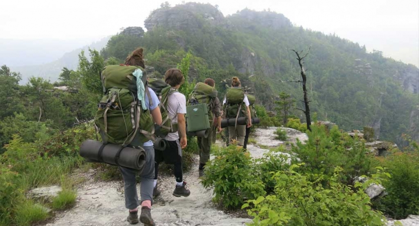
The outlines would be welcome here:
M 180 92 L 172 93 L 167 99 L 167 112 L 172 123 L 178 123 L 178 113 L 186 114 L 186 97 Z M 176 141 L 179 139 L 178 132 L 169 133 L 164 138 L 166 141 Z

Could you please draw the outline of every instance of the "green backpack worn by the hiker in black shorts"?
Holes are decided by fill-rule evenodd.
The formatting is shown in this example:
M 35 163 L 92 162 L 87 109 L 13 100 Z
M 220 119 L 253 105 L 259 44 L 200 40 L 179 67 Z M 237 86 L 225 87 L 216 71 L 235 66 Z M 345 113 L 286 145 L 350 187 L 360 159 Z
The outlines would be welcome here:
M 169 111 L 167 111 L 167 103 L 169 102 L 169 95 L 178 90 L 172 88 L 167 84 L 163 79 L 149 78 L 148 86 L 155 92 L 160 100 L 160 114 L 161 114 L 161 125 L 157 126 L 155 135 L 161 138 L 164 138 L 169 133 L 178 132 L 178 124 L 173 124 L 172 120 L 169 118 Z

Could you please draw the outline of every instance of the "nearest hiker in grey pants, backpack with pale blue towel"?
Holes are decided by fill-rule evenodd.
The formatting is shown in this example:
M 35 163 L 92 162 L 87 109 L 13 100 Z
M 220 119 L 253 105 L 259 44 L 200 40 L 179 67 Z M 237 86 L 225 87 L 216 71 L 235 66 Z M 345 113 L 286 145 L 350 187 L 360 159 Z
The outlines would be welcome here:
M 134 50 L 125 64 L 106 66 L 101 73 L 104 97 L 98 104 L 95 125 L 100 129 L 104 142 L 145 151 L 145 165 L 142 171 L 119 166 L 125 193 L 125 207 L 129 209 L 127 221 L 138 223 L 138 208 L 141 205 L 139 220 L 146 226 L 155 225 L 151 217 L 154 179 L 154 123 L 161 124 L 161 114 L 156 94 L 147 86 L 144 70 L 143 49 Z M 103 149 L 103 148 L 102 148 Z M 101 150 L 99 151 L 101 152 Z M 117 158 L 117 157 L 115 157 Z M 141 175 L 140 196 L 136 189 L 137 173 Z

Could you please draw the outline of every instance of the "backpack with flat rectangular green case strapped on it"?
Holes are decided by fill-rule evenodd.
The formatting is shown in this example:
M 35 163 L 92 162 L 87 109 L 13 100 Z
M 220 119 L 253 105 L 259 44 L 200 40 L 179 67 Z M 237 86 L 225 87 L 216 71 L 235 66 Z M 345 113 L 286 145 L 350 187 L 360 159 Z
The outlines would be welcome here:
M 189 94 L 189 102 L 186 107 L 186 120 L 188 132 L 206 130 L 213 121 L 212 108 L 217 90 L 203 82 L 198 82 L 194 90 Z

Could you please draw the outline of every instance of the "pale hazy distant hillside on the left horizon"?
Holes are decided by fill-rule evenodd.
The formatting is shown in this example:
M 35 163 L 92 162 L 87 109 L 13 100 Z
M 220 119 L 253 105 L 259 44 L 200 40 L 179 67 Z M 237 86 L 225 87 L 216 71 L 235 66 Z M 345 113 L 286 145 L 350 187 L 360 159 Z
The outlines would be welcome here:
M 58 79 L 58 75 L 61 73 L 63 67 L 73 70 L 77 68 L 78 54 L 81 50 L 85 50 L 87 53 L 89 48 L 100 51 L 106 46 L 109 38 L 110 36 L 103 38 L 98 42 L 94 42 L 91 45 L 67 52 L 64 55 L 61 54 L 58 60 L 51 61 L 50 63 L 28 66 L 10 66 L 10 68 L 12 71 L 20 72 L 22 74 L 21 84 L 25 84 L 28 81 L 28 78 L 32 76 L 46 78 L 53 82 Z

